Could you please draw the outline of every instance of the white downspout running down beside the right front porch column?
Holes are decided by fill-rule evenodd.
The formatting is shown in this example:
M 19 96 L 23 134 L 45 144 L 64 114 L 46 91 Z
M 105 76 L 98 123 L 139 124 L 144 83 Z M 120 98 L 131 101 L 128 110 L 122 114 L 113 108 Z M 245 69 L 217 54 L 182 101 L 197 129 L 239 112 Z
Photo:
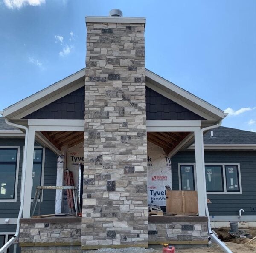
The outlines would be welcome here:
M 201 139 L 202 139 L 202 157 L 203 157 L 203 168 L 204 168 L 204 131 L 211 130 L 214 128 L 218 128 L 221 126 L 221 122 L 218 123 L 217 125 L 209 126 L 206 128 L 201 129 Z M 233 253 L 225 244 L 224 242 L 221 242 L 220 239 L 218 239 L 217 236 L 212 232 L 212 226 L 211 226 L 211 221 L 210 221 L 210 216 L 209 216 L 209 210 L 208 210 L 208 205 L 207 205 L 207 194 L 206 194 L 206 182 L 205 182 L 205 170 L 203 170 L 204 173 L 204 205 L 205 205 L 205 214 L 208 217 L 208 234 L 212 238 L 212 241 L 214 241 L 216 244 L 218 244 L 221 249 L 226 252 L 226 253 Z

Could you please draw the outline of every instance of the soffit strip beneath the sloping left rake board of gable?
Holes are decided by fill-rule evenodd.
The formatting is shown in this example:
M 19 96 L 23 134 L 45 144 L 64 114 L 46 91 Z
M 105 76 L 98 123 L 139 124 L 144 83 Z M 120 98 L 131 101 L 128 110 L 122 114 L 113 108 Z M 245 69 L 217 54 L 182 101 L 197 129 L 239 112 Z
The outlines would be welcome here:
M 40 108 L 46 106 L 46 105 L 49 105 L 50 103 L 56 101 L 57 99 L 60 99 L 61 97 L 64 97 L 66 96 L 67 94 L 70 94 L 71 92 L 73 91 L 76 91 L 78 90 L 79 88 L 83 87 L 85 85 L 84 82 L 80 82 L 79 84 L 76 84 L 74 86 L 72 86 L 71 88 L 65 90 L 65 91 L 62 91 L 60 93 L 58 93 L 57 95 L 55 95 L 54 97 L 51 97 L 47 100 L 45 100 L 44 102 L 41 102 L 39 103 L 38 105 L 35 105 L 35 106 L 32 106 L 32 108 L 29 108 L 28 110 L 26 111 L 23 111 L 22 113 L 16 115 L 15 117 L 13 117 L 12 119 L 22 119 L 23 117 L 31 114 L 32 112 L 34 111 L 37 111 L 39 110 Z

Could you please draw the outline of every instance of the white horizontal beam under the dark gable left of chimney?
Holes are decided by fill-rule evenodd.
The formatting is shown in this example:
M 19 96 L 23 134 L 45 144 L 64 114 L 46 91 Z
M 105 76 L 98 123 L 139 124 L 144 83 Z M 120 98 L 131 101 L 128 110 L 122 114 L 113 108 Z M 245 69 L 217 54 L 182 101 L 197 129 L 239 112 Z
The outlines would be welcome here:
M 84 127 L 83 119 L 29 119 L 29 126 L 82 126 Z M 50 131 L 50 130 L 49 130 Z M 64 131 L 64 130 L 63 130 Z

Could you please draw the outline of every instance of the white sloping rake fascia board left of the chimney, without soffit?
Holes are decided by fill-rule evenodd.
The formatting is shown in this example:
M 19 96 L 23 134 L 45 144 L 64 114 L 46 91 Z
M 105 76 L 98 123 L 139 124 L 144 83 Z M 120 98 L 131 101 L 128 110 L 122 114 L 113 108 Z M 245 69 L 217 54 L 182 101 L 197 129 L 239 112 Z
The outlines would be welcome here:
M 3 117 L 6 117 L 9 114 L 12 114 L 13 112 L 19 110 L 20 108 L 25 107 L 26 105 L 31 104 L 32 102 L 35 102 L 36 100 L 40 99 L 41 97 L 45 97 L 48 94 L 64 87 L 65 85 L 68 85 L 70 82 L 74 82 L 75 80 L 84 77 L 85 75 L 85 68 L 81 69 L 80 71 L 76 72 L 75 74 L 66 77 L 65 79 L 56 82 L 54 85 L 51 85 L 45 89 L 43 89 L 42 91 L 39 91 L 29 97 L 27 97 L 26 99 L 17 102 L 14 105 L 11 105 L 10 107 L 6 108 L 3 110 Z

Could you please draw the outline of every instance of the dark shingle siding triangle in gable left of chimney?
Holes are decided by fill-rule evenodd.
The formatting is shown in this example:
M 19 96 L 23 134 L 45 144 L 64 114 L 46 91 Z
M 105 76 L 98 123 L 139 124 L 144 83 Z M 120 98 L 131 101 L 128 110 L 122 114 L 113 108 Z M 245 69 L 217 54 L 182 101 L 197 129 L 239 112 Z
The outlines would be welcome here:
M 84 119 L 84 94 L 81 87 L 23 119 Z

